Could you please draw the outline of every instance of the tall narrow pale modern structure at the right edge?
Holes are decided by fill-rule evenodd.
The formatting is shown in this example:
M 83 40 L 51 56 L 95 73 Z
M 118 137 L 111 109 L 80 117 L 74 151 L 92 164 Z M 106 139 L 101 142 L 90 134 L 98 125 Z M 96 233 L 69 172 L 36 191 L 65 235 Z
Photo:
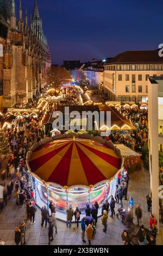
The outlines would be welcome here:
M 163 135 L 163 77 L 148 78 L 148 147 L 151 174 L 152 213 L 159 220 L 159 153 L 162 151 Z M 160 191 L 161 192 L 161 191 Z M 158 221 L 159 227 L 159 221 Z

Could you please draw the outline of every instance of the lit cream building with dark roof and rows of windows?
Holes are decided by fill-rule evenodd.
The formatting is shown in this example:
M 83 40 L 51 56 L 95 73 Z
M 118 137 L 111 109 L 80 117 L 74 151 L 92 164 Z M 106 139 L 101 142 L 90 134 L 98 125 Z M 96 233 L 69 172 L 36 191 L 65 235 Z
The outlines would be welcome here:
M 126 51 L 104 64 L 104 92 L 111 101 L 148 101 L 148 76 L 163 76 L 158 50 Z

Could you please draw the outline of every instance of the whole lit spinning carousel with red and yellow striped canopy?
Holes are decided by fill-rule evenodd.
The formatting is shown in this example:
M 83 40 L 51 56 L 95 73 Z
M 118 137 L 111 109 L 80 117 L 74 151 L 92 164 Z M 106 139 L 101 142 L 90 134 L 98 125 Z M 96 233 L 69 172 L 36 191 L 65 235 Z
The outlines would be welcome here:
M 41 208 L 52 200 L 62 220 L 66 220 L 69 204 L 84 211 L 87 203 L 97 201 L 101 206 L 109 199 L 121 163 L 105 143 L 79 137 L 49 138 L 27 154 L 37 205 Z

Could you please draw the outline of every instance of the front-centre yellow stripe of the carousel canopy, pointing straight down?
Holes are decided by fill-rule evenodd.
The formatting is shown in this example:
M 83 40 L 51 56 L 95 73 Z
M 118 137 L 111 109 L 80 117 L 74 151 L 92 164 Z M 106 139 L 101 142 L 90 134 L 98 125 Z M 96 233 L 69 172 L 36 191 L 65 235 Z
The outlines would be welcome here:
M 72 186 L 74 184 L 84 184 L 89 186 L 75 143 L 73 143 L 67 186 Z

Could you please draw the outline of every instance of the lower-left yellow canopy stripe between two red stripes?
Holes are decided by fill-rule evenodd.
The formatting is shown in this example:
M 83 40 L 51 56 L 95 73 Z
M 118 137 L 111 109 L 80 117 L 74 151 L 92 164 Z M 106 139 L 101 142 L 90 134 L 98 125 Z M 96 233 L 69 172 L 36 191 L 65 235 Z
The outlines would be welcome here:
M 35 174 L 38 175 L 42 180 L 47 181 L 49 176 L 55 172 L 55 168 L 62 160 L 62 157 L 65 155 L 67 150 L 70 148 L 71 144 L 72 142 L 69 143 L 64 149 L 59 151 L 57 155 L 53 156 L 49 161 L 43 164 L 39 169 L 35 171 Z

